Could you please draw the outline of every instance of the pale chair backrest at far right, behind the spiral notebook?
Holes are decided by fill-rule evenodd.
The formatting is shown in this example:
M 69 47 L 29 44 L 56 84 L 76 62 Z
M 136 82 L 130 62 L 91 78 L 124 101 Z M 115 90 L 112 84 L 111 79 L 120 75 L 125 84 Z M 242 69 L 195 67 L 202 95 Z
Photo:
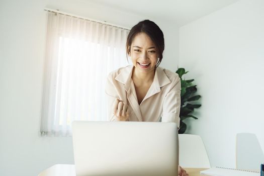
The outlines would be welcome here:
M 236 168 L 259 169 L 264 162 L 261 146 L 252 133 L 238 133 L 236 135 Z

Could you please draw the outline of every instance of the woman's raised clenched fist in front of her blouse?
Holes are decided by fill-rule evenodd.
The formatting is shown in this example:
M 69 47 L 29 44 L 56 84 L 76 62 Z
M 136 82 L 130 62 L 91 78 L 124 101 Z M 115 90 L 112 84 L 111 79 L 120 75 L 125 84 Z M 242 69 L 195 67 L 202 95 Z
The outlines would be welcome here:
M 128 121 L 128 106 L 122 100 L 116 99 L 113 104 L 113 112 L 117 121 Z

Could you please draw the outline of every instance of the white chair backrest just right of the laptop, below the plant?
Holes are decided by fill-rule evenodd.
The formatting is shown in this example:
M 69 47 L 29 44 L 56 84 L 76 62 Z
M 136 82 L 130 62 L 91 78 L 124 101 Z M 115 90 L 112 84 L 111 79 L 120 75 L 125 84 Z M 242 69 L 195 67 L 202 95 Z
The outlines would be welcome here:
M 182 167 L 211 167 L 204 143 L 200 136 L 179 134 L 179 164 Z

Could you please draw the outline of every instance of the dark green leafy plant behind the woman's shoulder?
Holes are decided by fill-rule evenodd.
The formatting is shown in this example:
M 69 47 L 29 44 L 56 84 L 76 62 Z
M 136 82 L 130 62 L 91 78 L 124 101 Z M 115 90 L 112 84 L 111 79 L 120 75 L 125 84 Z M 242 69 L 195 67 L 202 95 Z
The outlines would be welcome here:
M 179 134 L 185 133 L 187 129 L 186 123 L 183 122 L 185 119 L 187 118 L 198 119 L 197 117 L 192 115 L 192 113 L 194 112 L 194 109 L 201 107 L 201 104 L 197 104 L 197 102 L 195 102 L 199 100 L 201 96 L 195 95 L 197 92 L 197 88 L 196 88 L 197 85 L 192 84 L 194 79 L 185 80 L 182 78 L 182 76 L 188 72 L 189 71 L 185 71 L 184 68 L 178 68 L 178 70 L 176 71 L 176 73 L 178 73 L 181 78 L 181 86 L 182 86 L 181 110 L 180 110 L 181 121 L 180 121 Z

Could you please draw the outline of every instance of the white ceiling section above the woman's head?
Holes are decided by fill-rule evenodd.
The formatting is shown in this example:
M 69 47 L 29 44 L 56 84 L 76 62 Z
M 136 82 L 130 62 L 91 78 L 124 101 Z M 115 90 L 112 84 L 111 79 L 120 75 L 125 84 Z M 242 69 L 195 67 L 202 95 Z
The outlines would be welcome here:
M 139 16 L 183 26 L 239 0 L 86 0 Z M 150 19 L 151 20 L 151 19 Z

